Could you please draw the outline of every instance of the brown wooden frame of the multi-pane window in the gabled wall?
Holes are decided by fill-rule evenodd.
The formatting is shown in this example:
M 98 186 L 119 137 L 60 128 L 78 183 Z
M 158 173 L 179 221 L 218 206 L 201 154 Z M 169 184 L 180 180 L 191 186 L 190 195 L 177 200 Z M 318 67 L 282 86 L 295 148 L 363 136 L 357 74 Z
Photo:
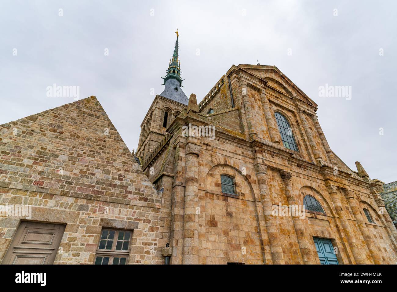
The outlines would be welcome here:
M 99 249 L 100 246 L 100 242 L 102 240 L 102 232 L 104 231 L 114 231 L 114 239 L 113 239 L 113 243 L 112 243 L 112 249 L 111 250 L 104 250 L 104 249 Z M 130 236 L 129 236 L 129 240 L 128 240 L 128 250 L 116 250 L 116 246 L 117 246 L 117 242 L 118 240 L 118 236 L 119 236 L 119 232 L 129 232 Z M 96 253 L 95 253 L 95 258 L 94 258 L 94 265 L 96 263 L 96 258 L 98 256 L 102 257 L 102 261 L 103 261 L 103 257 L 109 257 L 109 262 L 108 265 L 113 265 L 113 260 L 115 257 L 125 257 L 125 264 L 128 264 L 128 258 L 129 258 L 129 252 L 131 250 L 131 240 L 132 240 L 132 235 L 133 235 L 133 231 L 132 230 L 125 230 L 125 229 L 113 229 L 113 228 L 104 228 L 101 230 L 100 232 L 100 238 L 99 238 L 99 242 L 98 242 L 98 247 L 96 248 Z M 125 234 L 124 234 L 125 237 Z M 108 238 L 106 238 L 106 245 L 107 245 L 107 241 Z M 127 242 L 127 240 L 122 240 L 123 242 Z M 105 248 L 106 248 L 105 245 Z M 121 246 L 122 248 L 122 246 Z M 102 262 L 101 262 L 102 265 Z

